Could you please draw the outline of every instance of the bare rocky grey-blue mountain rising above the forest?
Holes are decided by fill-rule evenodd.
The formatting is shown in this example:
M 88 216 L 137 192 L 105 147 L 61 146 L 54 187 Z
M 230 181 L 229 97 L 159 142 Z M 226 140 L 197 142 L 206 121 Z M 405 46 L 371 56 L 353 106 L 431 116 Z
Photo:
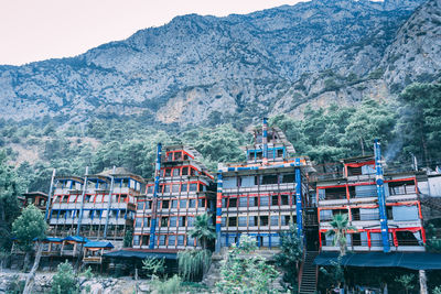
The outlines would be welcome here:
M 440 1 L 313 0 L 176 17 L 75 57 L 0 66 L 0 118 L 137 115 L 184 127 L 386 99 L 439 77 Z

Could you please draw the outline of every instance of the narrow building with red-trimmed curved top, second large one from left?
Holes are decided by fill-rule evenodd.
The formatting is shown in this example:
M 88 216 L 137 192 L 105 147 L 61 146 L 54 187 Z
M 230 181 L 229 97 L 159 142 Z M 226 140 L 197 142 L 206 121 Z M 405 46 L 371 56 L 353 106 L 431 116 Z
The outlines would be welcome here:
M 215 207 L 213 176 L 201 160 L 193 148 L 158 145 L 155 178 L 147 181 L 146 194 L 138 197 L 133 248 L 201 247 L 189 230 L 197 215 Z

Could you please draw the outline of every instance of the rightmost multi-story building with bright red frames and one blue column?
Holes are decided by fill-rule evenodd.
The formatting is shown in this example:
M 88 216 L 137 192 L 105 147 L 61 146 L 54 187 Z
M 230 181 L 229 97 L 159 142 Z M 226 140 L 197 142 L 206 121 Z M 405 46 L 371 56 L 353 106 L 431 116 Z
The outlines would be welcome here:
M 342 161 L 342 173 L 329 174 L 316 183 L 320 247 L 336 251 L 326 231 L 336 214 L 347 214 L 356 230 L 347 235 L 351 251 L 424 251 L 418 181 L 415 171 L 385 166 L 379 144 L 376 154 Z

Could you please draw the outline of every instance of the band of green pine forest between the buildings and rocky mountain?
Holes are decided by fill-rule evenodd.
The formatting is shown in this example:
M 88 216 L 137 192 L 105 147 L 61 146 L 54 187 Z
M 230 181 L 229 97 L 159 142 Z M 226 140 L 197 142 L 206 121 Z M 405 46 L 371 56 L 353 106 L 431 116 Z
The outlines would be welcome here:
M 286 115 L 270 118 L 293 143 L 299 154 L 315 163 L 372 152 L 375 138 L 381 140 L 388 161 L 441 164 L 441 84 L 415 84 L 397 101 L 379 104 L 366 99 L 362 107 L 306 108 L 303 119 Z M 51 120 L 39 124 L 0 123 L 0 142 L 17 165 L 17 173 L 30 190 L 47 190 L 52 168 L 58 174 L 80 175 L 88 165 L 99 173 L 112 165 L 151 177 L 155 145 L 186 143 L 196 148 L 205 164 L 216 171 L 218 162 L 245 160 L 239 146 L 250 142 L 241 123 L 197 127 L 182 131 L 158 130 L 141 119 L 93 120 L 87 126 L 58 129 Z

